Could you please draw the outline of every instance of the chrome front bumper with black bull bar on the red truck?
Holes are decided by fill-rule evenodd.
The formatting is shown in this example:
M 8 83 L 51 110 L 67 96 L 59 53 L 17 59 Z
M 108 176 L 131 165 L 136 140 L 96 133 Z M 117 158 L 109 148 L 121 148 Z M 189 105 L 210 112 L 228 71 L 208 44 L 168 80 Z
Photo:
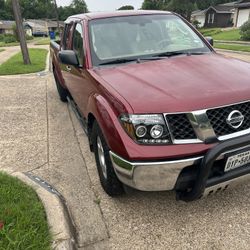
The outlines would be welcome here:
M 169 160 L 162 162 L 129 162 L 113 152 L 110 157 L 117 177 L 124 184 L 141 191 L 174 190 L 179 186 L 181 173 L 192 167 L 193 180 L 191 186 L 177 191 L 177 198 L 185 201 L 199 199 L 205 193 L 212 192 L 212 187 L 221 189 L 231 182 L 250 179 L 250 167 L 241 167 L 220 176 L 210 178 L 213 165 L 225 158 L 225 154 L 235 152 L 250 146 L 250 135 L 219 143 L 204 156 Z M 189 183 L 189 184 L 190 184 Z

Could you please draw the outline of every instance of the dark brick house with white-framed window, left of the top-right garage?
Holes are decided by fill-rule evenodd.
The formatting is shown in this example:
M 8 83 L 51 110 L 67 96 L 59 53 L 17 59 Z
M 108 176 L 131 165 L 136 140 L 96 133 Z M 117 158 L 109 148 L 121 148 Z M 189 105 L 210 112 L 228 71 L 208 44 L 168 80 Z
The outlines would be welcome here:
M 231 27 L 233 26 L 236 2 L 210 6 L 205 14 L 205 27 Z

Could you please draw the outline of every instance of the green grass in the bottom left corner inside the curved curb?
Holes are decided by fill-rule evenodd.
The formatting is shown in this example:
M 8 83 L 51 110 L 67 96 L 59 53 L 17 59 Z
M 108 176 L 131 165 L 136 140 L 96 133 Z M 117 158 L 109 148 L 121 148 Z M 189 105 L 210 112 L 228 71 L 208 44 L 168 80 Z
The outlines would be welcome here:
M 52 237 L 35 191 L 0 173 L 0 249 L 51 249 Z

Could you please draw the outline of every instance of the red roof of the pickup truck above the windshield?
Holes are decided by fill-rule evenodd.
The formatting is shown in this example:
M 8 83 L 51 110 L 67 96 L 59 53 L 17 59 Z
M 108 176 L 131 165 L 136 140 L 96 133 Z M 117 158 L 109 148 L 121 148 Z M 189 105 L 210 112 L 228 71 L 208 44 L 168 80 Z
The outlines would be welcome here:
M 157 11 L 157 10 L 121 10 L 121 11 L 112 11 L 112 12 L 90 12 L 84 14 L 73 15 L 67 18 L 65 23 L 68 23 L 74 19 L 99 19 L 99 18 L 108 18 L 116 16 L 137 16 L 137 15 L 154 15 L 154 14 L 171 14 L 168 11 Z

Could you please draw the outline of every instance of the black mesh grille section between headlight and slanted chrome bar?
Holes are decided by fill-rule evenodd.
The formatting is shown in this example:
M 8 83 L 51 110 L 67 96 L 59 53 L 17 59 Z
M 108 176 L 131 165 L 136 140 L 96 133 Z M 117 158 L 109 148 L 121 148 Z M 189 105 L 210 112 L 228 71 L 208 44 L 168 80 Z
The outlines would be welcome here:
M 166 115 L 166 120 L 175 140 L 197 139 L 186 114 Z

